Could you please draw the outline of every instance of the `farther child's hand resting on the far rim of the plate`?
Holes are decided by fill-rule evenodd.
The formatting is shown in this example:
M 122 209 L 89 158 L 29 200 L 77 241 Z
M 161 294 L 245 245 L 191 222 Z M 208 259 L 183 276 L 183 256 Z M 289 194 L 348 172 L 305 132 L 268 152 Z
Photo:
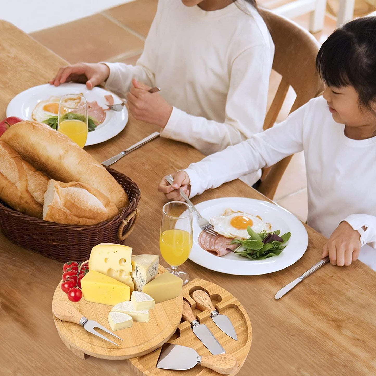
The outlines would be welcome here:
M 109 75 L 110 68 L 106 64 L 78 63 L 60 68 L 50 84 L 59 86 L 61 83 L 73 81 L 86 83 L 86 87 L 92 89 L 108 79 Z

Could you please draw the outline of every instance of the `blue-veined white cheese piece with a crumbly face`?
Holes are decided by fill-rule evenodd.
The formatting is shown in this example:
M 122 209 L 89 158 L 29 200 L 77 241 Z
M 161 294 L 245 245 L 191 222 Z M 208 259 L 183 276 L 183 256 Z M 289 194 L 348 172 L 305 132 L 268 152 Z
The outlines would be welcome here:
M 142 288 L 156 277 L 158 264 L 157 255 L 132 256 L 132 280 L 136 291 L 142 291 Z

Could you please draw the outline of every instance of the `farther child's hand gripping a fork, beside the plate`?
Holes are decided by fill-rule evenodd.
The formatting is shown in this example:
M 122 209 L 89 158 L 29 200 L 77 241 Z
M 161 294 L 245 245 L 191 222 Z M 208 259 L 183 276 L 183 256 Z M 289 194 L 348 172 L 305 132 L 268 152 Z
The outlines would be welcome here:
M 159 94 L 151 94 L 149 86 L 132 80 L 133 88 L 127 94 L 130 113 L 136 120 L 158 125 L 164 128 L 170 118 L 172 106 L 170 106 Z

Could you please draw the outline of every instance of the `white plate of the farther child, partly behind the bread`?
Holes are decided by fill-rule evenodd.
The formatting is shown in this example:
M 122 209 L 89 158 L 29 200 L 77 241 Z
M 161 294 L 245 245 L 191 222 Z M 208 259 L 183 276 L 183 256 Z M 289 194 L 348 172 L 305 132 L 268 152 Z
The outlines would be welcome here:
M 89 90 L 86 88 L 86 85 L 82 83 L 63 83 L 57 87 L 47 83 L 45 85 L 34 86 L 33 88 L 17 94 L 11 102 L 9 102 L 6 108 L 6 116 L 17 116 L 24 120 L 32 120 L 31 114 L 38 102 L 47 100 L 52 96 L 59 97 L 65 94 L 79 93 L 83 93 L 83 96 L 88 102 L 96 100 L 99 106 L 103 108 L 107 108 L 107 106 L 105 106 L 105 95 L 108 94 L 114 97 L 115 104 L 121 103 L 119 97 L 102 88 L 94 87 Z M 128 111 L 125 106 L 123 106 L 123 110 L 119 112 L 106 111 L 105 121 L 103 121 L 96 130 L 88 133 L 85 146 L 99 144 L 116 136 L 124 129 L 127 121 Z

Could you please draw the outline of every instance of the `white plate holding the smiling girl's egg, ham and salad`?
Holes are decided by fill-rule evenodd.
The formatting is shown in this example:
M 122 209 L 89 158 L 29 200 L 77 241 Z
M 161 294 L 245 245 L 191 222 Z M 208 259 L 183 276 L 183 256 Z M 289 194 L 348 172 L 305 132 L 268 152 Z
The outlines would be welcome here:
M 225 209 L 233 211 L 243 211 L 245 213 L 259 215 L 264 222 L 271 223 L 271 230 L 280 230 L 281 234 L 291 232 L 291 238 L 286 248 L 279 256 L 273 256 L 265 260 L 252 261 L 245 257 L 228 253 L 225 256 L 215 256 L 203 250 L 197 239 L 201 229 L 197 216 L 193 220 L 193 247 L 189 259 L 205 268 L 220 271 L 221 273 L 236 274 L 243 276 L 253 276 L 258 274 L 273 273 L 282 270 L 298 261 L 304 254 L 308 246 L 308 234 L 303 226 L 293 214 L 280 206 L 255 199 L 243 197 L 225 197 L 201 202 L 195 205 L 202 217 L 210 218 L 221 215 Z

